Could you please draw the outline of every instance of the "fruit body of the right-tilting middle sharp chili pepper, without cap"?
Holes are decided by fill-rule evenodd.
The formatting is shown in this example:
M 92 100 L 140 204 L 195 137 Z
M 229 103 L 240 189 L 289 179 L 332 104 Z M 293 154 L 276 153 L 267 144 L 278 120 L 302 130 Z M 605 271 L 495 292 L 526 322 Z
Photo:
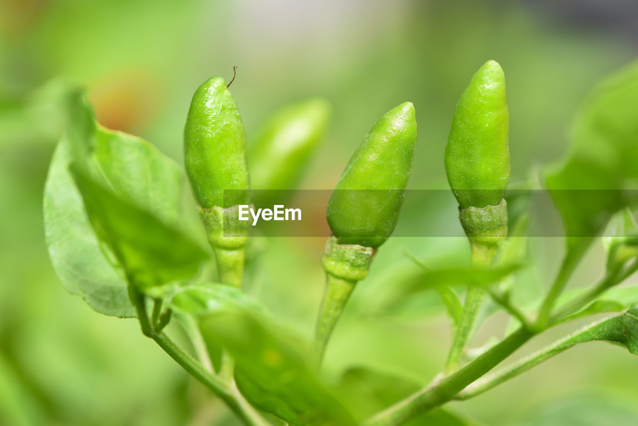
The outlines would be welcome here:
M 394 230 L 417 143 L 414 105 L 389 110 L 346 165 L 327 219 L 339 244 L 377 248 Z

